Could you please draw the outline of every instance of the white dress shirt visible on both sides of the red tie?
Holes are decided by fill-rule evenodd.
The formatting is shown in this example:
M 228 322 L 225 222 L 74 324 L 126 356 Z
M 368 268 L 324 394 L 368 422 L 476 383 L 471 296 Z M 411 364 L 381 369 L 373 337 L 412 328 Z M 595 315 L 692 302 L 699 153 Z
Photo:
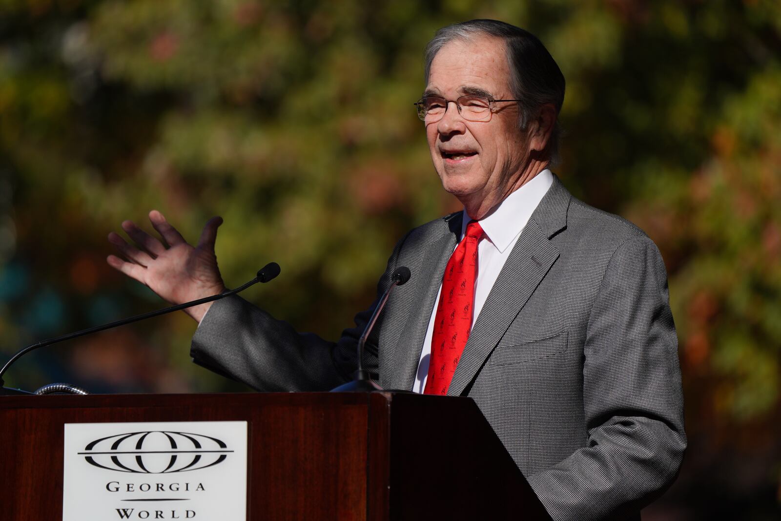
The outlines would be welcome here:
M 494 287 L 499 272 L 505 266 L 505 261 L 510 256 L 515 242 L 518 241 L 523 228 L 529 222 L 529 218 L 537 209 L 537 205 L 547 194 L 548 188 L 553 184 L 553 173 L 551 170 L 543 170 L 532 178 L 528 183 L 522 185 L 518 190 L 509 194 L 502 201 L 496 210 L 489 216 L 480 220 L 480 227 L 486 234 L 477 247 L 477 280 L 475 281 L 475 302 L 473 305 L 472 324 L 474 325 L 480 310 L 488 298 L 488 293 Z M 464 210 L 463 223 L 461 227 L 461 237 L 464 237 L 466 225 L 472 220 Z M 458 246 L 458 244 L 456 244 Z M 455 248 L 454 248 L 455 250 Z M 429 361 L 431 358 L 431 337 L 434 331 L 434 318 L 437 316 L 437 307 L 439 307 L 439 292 L 442 291 L 442 284 L 437 291 L 437 300 L 434 302 L 434 308 L 429 319 L 429 328 L 426 330 L 426 339 L 423 341 L 423 351 L 420 353 L 420 363 L 418 373 L 415 376 L 415 383 L 412 384 L 412 391 L 422 393 L 426 388 L 426 377 L 429 373 Z

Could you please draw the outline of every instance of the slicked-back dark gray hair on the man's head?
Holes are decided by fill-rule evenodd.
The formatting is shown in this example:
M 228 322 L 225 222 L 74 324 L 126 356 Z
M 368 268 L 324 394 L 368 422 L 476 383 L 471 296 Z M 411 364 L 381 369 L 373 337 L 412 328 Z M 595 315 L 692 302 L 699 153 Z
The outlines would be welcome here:
M 431 62 L 444 45 L 455 39 L 470 41 L 481 36 L 501 38 L 505 42 L 512 95 L 522 100 L 519 102 L 521 130 L 526 130 L 541 105 L 551 103 L 555 106 L 556 123 L 546 150 L 551 163 L 558 162 L 558 144 L 562 134 L 558 113 L 564 103 L 564 75 L 540 39 L 529 31 L 497 20 L 469 20 L 442 27 L 426 45 L 426 83 Z

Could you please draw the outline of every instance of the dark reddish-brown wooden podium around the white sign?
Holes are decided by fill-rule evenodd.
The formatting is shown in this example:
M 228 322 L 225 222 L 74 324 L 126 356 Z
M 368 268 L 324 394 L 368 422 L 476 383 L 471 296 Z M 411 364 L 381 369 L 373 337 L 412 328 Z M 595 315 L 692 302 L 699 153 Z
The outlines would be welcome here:
M 226 420 L 252 521 L 549 519 L 471 399 L 386 392 L 2 396 L 2 519 L 62 519 L 65 423 Z

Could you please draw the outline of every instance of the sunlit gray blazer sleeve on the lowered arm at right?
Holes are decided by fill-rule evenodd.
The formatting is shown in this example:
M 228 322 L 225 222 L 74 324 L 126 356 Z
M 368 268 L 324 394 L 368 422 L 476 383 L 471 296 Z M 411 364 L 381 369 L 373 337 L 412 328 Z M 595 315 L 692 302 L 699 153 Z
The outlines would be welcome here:
M 648 237 L 612 255 L 583 356 L 586 446 L 527 479 L 553 519 L 621 519 L 672 484 L 686 448 L 667 274 Z

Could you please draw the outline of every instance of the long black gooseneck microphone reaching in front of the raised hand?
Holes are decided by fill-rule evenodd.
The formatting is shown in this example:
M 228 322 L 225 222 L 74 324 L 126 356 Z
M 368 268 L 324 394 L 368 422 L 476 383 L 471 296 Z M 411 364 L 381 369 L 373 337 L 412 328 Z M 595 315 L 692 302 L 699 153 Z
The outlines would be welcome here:
M 142 313 L 141 315 L 131 316 L 127 319 L 116 320 L 116 322 L 103 324 L 102 326 L 89 327 L 85 330 L 77 331 L 76 333 L 64 334 L 61 337 L 49 338 L 48 340 L 40 341 L 37 344 L 28 345 L 26 348 L 20 349 L 20 351 L 16 351 L 16 354 L 13 355 L 8 362 L 5 362 L 5 366 L 2 366 L 2 369 L 0 369 L 0 395 L 27 394 L 27 392 L 25 391 L 3 387 L 5 385 L 5 382 L 3 381 L 2 376 L 5 374 L 5 371 L 8 370 L 8 368 L 11 366 L 13 362 L 16 362 L 16 360 L 20 359 L 23 355 L 27 355 L 27 353 L 29 353 L 30 351 L 34 351 L 37 348 L 44 348 L 47 345 L 56 344 L 58 342 L 71 340 L 72 338 L 83 337 L 84 335 L 87 334 L 98 333 L 98 331 L 111 329 L 112 327 L 124 326 L 125 324 L 138 322 L 139 320 L 151 319 L 153 316 L 165 315 L 166 313 L 179 311 L 180 309 L 190 308 L 194 305 L 205 304 L 206 302 L 214 302 L 216 300 L 219 300 L 220 298 L 230 297 L 230 295 L 232 294 L 237 294 L 241 291 L 244 291 L 245 289 L 252 286 L 253 284 L 258 284 L 259 282 L 262 283 L 269 282 L 269 280 L 273 280 L 279 274 L 280 274 L 280 265 L 277 264 L 276 262 L 269 262 L 268 264 L 266 264 L 266 266 L 263 266 L 261 269 L 259 269 L 254 279 L 248 281 L 246 284 L 237 287 L 234 290 L 223 291 L 223 293 L 212 295 L 211 297 L 198 298 L 198 300 L 194 300 L 191 302 L 184 302 L 184 304 L 172 305 L 169 308 L 158 309 L 157 311 L 151 311 L 148 313 Z

